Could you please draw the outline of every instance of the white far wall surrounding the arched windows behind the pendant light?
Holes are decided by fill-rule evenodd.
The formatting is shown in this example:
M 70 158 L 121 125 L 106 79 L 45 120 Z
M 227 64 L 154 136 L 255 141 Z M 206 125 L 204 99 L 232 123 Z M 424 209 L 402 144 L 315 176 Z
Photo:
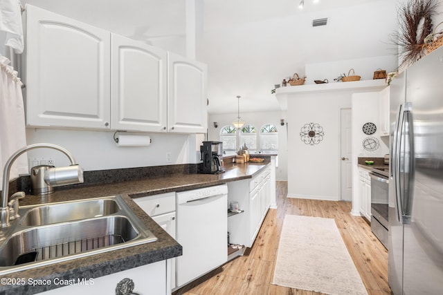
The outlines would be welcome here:
M 280 125 L 280 120 L 284 119 L 287 122 L 286 112 L 266 112 L 266 113 L 243 113 L 240 108 L 240 117 L 255 128 L 260 128 L 264 124 L 273 124 L 278 130 L 278 167 L 275 169 L 276 180 L 287 180 L 287 125 Z M 237 113 L 230 114 L 210 114 L 208 116 L 208 140 L 219 140 L 220 130 L 230 125 L 237 118 Z M 217 122 L 217 129 L 214 127 L 214 122 Z

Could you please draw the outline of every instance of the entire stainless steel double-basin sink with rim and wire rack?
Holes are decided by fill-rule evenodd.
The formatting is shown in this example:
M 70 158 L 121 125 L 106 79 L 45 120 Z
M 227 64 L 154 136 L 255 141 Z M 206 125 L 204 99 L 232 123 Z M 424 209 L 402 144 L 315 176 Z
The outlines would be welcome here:
M 157 240 L 120 196 L 19 211 L 23 217 L 0 242 L 0 275 Z

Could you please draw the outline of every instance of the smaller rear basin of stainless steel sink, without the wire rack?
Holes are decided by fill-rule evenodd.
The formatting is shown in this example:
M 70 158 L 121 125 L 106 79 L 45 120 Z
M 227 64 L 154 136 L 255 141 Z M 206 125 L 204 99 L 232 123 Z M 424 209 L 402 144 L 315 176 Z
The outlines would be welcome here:
M 77 202 L 63 202 L 46 204 L 33 209 L 21 207 L 19 213 L 24 213 L 20 220 L 21 225 L 51 225 L 65 221 L 82 220 L 107 216 L 120 211 L 116 200 L 112 198 L 98 198 Z

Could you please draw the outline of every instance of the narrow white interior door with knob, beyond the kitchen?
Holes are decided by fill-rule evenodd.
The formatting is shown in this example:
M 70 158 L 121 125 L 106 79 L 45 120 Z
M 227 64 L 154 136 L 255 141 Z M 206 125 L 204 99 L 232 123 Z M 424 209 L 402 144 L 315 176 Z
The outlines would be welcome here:
M 352 137 L 351 137 L 351 109 L 340 110 L 340 196 L 343 201 L 352 200 Z

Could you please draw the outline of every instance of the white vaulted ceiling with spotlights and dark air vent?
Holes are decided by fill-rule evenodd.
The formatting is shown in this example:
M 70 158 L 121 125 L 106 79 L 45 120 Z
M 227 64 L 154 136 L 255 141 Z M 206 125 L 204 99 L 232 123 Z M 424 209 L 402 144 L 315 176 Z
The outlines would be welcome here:
M 146 43 L 186 38 L 186 0 L 22 0 Z M 210 113 L 278 111 L 271 88 L 305 65 L 393 55 L 394 0 L 203 1 L 201 55 Z M 327 18 L 327 26 L 311 26 Z M 183 48 L 182 48 L 183 49 Z

